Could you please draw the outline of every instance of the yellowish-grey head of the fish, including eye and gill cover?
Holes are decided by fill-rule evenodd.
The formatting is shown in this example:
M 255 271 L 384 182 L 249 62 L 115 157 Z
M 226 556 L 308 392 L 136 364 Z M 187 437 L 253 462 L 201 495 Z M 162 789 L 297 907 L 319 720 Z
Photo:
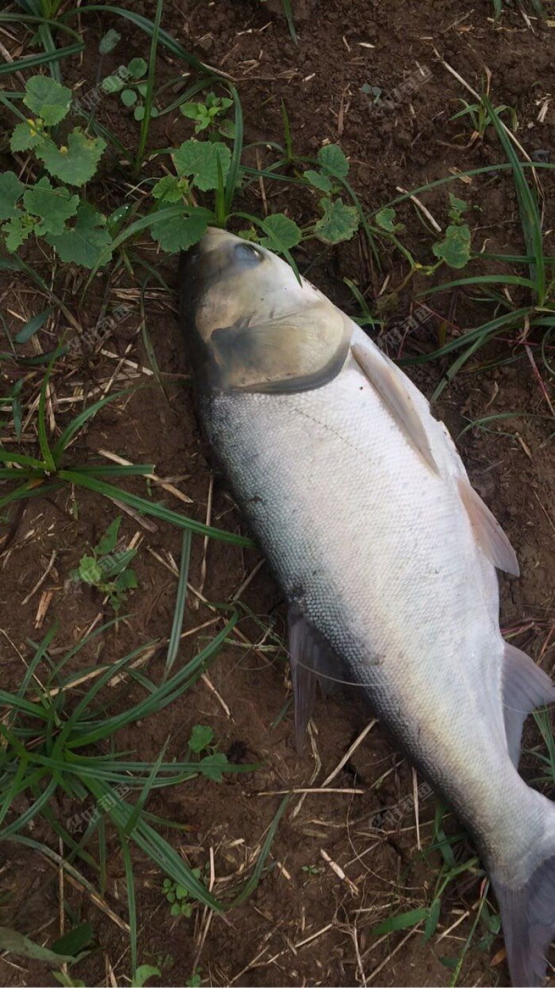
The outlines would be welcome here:
M 180 282 L 201 387 L 302 391 L 341 371 L 351 321 L 260 244 L 210 228 L 184 255 Z

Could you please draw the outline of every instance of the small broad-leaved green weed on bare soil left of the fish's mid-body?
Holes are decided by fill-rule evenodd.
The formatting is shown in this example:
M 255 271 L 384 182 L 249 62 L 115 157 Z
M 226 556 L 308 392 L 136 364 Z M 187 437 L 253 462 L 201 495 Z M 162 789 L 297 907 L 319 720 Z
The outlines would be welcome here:
M 81 581 L 96 587 L 103 594 L 108 594 L 114 611 L 121 609 L 127 593 L 138 586 L 135 571 L 129 566 L 131 559 L 136 555 L 136 549 L 116 551 L 120 523 L 119 515 L 98 545 L 93 547 L 93 554 L 82 556 L 79 567 L 71 573 L 73 580 Z

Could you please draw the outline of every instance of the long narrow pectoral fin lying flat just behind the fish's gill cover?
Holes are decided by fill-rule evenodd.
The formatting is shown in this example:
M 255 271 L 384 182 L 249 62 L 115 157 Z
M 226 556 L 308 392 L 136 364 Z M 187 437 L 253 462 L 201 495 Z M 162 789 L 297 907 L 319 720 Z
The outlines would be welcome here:
M 351 347 L 351 352 L 358 367 L 364 371 L 389 411 L 403 432 L 426 460 L 431 470 L 439 474 L 436 460 L 432 453 L 426 428 L 415 407 L 409 391 L 394 366 L 389 366 L 385 359 L 372 350 L 360 347 L 357 343 Z

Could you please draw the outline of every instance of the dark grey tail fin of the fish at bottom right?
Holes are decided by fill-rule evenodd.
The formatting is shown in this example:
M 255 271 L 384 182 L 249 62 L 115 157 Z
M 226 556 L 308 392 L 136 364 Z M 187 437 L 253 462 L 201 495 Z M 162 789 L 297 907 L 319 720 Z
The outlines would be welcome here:
M 550 810 L 553 813 L 552 805 Z M 522 988 L 543 984 L 547 953 L 555 938 L 555 838 L 552 843 L 553 856 L 539 864 L 520 888 L 510 889 L 492 875 L 511 981 Z

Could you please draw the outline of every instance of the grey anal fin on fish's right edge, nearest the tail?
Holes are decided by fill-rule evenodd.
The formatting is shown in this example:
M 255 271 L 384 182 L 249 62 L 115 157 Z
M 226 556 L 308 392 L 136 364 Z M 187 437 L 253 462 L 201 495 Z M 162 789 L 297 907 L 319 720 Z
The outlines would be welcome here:
M 522 726 L 536 706 L 555 701 L 555 685 L 529 655 L 505 643 L 503 707 L 509 754 L 515 766 L 520 757 Z

